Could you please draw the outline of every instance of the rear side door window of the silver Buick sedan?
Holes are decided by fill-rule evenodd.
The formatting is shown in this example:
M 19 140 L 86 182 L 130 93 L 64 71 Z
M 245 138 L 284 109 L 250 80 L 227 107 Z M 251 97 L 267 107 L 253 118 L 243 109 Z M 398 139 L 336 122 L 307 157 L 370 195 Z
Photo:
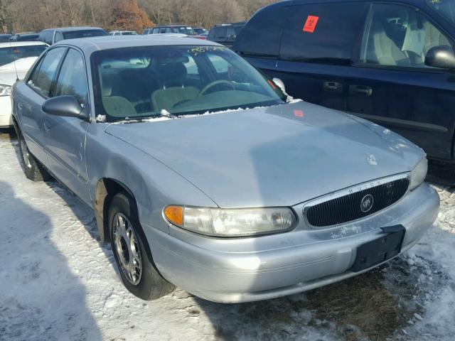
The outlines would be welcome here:
M 46 53 L 40 65 L 33 71 L 33 74 L 28 80 L 28 85 L 31 85 L 31 87 L 43 94 L 43 96 L 50 97 L 50 87 L 65 51 L 66 48 L 54 48 Z

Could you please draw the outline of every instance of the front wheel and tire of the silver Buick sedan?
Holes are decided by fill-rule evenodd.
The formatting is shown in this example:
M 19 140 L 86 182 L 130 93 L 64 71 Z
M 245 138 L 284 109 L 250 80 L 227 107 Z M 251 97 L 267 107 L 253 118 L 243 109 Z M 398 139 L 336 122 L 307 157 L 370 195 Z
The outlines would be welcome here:
M 108 219 L 112 252 L 128 291 L 145 301 L 171 293 L 175 286 L 166 281 L 154 266 L 132 197 L 124 192 L 114 195 Z

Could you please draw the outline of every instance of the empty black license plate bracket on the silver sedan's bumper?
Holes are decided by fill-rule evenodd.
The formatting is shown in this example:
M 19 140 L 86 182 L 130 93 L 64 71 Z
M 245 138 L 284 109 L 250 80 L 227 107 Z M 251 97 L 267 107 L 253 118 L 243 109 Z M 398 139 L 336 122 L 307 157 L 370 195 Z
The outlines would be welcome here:
M 406 229 L 402 225 L 382 227 L 383 236 L 360 245 L 350 271 L 360 272 L 400 254 Z

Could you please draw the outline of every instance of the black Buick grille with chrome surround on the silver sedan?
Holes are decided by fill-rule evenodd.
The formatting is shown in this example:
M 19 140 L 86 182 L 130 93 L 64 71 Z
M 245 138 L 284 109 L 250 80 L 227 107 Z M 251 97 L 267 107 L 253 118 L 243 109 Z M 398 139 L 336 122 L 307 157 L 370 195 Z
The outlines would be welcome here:
M 346 195 L 337 196 L 304 208 L 304 215 L 314 227 L 326 227 L 358 220 L 373 215 L 395 204 L 406 194 L 410 180 L 407 176 L 378 185 L 366 185 L 365 189 L 350 190 Z M 373 205 L 365 212 L 365 202 L 373 197 Z M 319 200 L 320 201 L 320 200 Z M 368 208 L 368 206 L 366 206 Z M 363 210 L 364 209 L 364 210 Z

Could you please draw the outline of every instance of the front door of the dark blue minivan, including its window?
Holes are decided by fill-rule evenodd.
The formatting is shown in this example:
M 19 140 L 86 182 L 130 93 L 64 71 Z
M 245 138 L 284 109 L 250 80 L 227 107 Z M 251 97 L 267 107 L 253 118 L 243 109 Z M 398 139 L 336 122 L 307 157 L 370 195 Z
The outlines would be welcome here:
M 451 158 L 455 79 L 425 65 L 436 46 L 454 42 L 422 9 L 370 4 L 350 68 L 346 110 L 405 136 L 432 158 Z

